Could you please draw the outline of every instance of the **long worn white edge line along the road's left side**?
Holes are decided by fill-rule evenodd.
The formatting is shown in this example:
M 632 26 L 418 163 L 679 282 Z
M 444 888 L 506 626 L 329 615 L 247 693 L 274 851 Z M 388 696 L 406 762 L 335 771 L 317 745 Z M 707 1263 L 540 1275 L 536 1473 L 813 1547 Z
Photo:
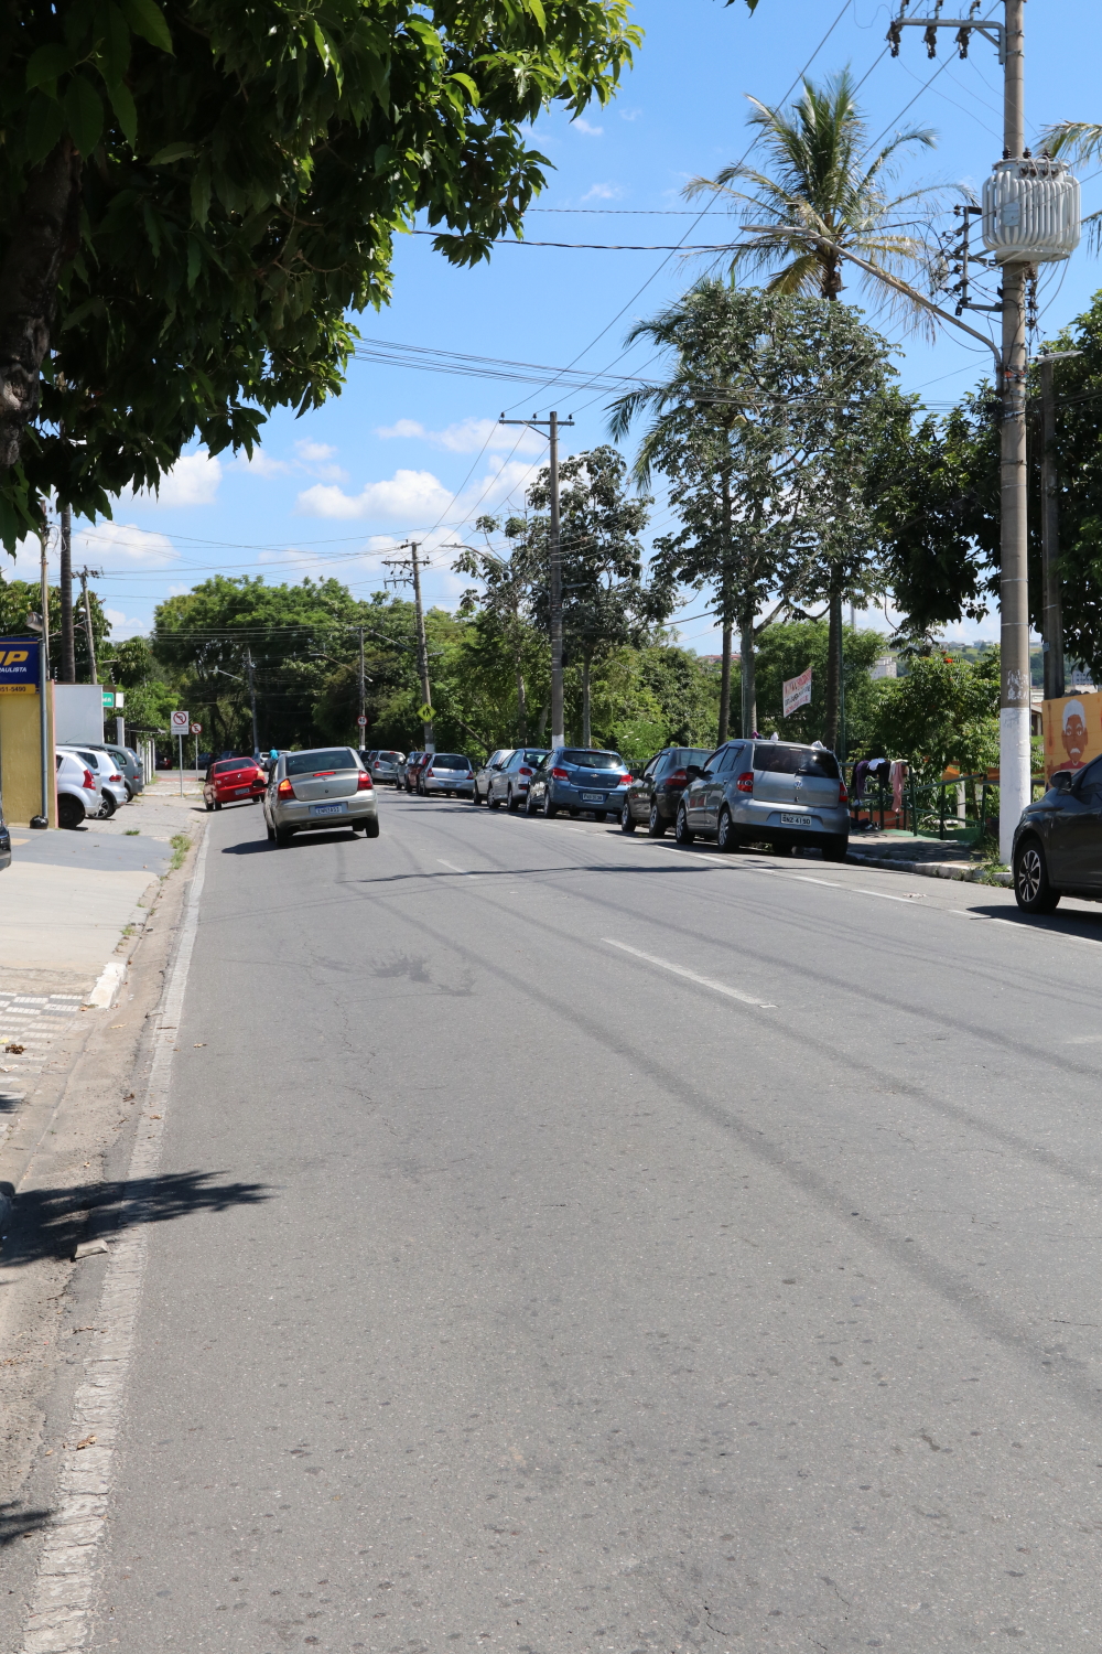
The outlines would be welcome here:
M 129 1171 L 129 1186 L 139 1193 L 124 1204 L 116 1236 L 111 1237 L 107 1275 L 94 1315 L 99 1336 L 84 1360 L 84 1376 L 73 1401 L 68 1439 L 79 1442 L 91 1436 L 91 1446 L 79 1451 L 73 1446 L 61 1460 L 58 1508 L 38 1561 L 23 1654 L 76 1654 L 91 1632 L 99 1585 L 99 1546 L 107 1527 L 114 1451 L 142 1298 L 149 1236 L 145 1202 L 160 1166 L 172 1049 L 195 946 L 207 845 L 208 839 L 203 837 L 180 926 L 180 948 L 157 1014 L 157 1044 L 145 1087 L 144 1118 Z

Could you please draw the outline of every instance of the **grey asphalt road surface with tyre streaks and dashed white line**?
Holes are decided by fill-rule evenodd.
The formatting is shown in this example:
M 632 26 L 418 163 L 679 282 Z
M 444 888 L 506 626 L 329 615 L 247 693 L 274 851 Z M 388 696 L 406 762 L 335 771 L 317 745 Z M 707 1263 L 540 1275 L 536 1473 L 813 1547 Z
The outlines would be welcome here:
M 91 1646 L 1094 1654 L 1102 908 L 382 820 L 210 824 Z

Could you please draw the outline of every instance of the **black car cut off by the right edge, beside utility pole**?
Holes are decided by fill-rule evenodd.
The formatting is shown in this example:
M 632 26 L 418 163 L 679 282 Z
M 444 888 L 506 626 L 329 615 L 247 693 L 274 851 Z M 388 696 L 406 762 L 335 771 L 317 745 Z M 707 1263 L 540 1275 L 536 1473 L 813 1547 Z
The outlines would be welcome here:
M 1057 771 L 1026 805 L 1011 865 L 1023 913 L 1051 913 L 1061 896 L 1102 901 L 1102 758 Z

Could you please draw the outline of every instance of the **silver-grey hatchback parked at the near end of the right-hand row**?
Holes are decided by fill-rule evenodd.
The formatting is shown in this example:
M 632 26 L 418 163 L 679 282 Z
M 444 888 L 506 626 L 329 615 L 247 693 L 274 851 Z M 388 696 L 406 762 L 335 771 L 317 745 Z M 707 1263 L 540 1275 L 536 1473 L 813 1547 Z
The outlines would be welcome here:
M 772 844 L 791 855 L 818 845 L 828 862 L 849 849 L 849 796 L 838 759 L 818 743 L 727 741 L 704 769 L 686 766 L 689 786 L 677 805 L 677 844 L 699 835 L 717 849 Z

